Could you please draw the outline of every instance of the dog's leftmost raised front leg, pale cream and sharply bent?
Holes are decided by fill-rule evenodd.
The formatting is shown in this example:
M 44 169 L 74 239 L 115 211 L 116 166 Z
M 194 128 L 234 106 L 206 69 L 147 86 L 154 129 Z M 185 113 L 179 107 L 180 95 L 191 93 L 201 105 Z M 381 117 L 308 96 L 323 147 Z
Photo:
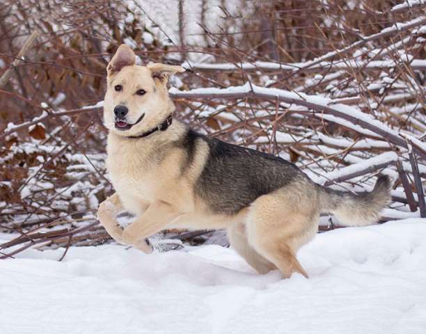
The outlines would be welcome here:
M 117 221 L 116 216 L 123 212 L 124 207 L 121 203 L 117 193 L 104 200 L 97 209 L 97 219 L 99 219 L 102 226 L 107 230 L 108 234 L 120 244 L 123 244 L 121 228 Z

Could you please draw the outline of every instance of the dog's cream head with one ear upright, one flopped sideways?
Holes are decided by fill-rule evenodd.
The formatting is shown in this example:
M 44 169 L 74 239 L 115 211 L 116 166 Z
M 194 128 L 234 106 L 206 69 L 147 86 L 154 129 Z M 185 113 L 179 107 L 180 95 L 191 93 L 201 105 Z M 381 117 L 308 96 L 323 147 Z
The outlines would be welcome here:
M 180 66 L 150 63 L 135 65 L 135 55 L 120 45 L 107 66 L 104 124 L 121 136 L 135 136 L 157 127 L 173 112 L 167 79 L 184 72 Z

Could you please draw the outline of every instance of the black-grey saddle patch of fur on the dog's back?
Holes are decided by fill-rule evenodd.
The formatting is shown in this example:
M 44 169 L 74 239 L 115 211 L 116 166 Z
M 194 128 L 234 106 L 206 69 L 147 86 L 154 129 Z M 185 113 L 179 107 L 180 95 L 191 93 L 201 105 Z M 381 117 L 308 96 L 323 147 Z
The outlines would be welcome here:
M 196 193 L 214 213 L 235 214 L 258 197 L 304 175 L 293 164 L 271 154 L 200 136 L 208 144 L 208 158 Z

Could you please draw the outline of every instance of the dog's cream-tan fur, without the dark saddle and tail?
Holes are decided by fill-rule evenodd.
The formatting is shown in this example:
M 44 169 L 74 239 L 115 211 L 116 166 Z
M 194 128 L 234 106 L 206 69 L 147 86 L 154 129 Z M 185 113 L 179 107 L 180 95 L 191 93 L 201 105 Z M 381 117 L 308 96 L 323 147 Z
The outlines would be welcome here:
M 194 190 L 209 154 L 205 142 L 196 142 L 194 161 L 182 170 L 186 152 L 173 147 L 185 131 L 182 123 L 174 121 L 166 132 L 145 138 L 127 138 L 156 127 L 173 112 L 167 76 L 181 71 L 164 64 L 134 65 L 133 51 L 126 46 L 109 63 L 104 120 L 109 129 L 107 169 L 116 193 L 100 205 L 100 222 L 113 239 L 145 253 L 152 250 L 145 238 L 165 228 L 227 228 L 231 245 L 258 272 L 278 268 L 284 277 L 294 271 L 308 277 L 296 252 L 317 231 L 320 205 L 314 184 L 289 184 L 237 214 L 212 214 Z M 114 90 L 118 84 L 123 91 Z M 135 95 L 138 89 L 147 93 Z M 129 109 L 130 123 L 145 113 L 143 121 L 129 130 L 116 129 L 113 109 L 118 104 Z M 136 219 L 122 230 L 116 216 L 124 210 Z

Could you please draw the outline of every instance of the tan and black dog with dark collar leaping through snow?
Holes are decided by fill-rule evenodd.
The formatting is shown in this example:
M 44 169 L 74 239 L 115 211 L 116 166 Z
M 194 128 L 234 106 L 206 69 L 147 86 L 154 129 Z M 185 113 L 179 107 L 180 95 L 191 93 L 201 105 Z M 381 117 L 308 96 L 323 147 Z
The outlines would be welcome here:
M 104 124 L 109 129 L 107 170 L 116 193 L 97 216 L 120 244 L 152 252 L 147 237 L 166 228 L 225 228 L 232 248 L 258 273 L 278 269 L 308 278 L 297 250 L 318 229 L 319 214 L 343 225 L 368 225 L 390 202 L 390 179 L 370 193 L 326 189 L 294 164 L 257 150 L 199 134 L 173 119 L 168 96 L 180 66 L 135 64 L 121 45 L 107 66 Z M 132 212 L 121 228 L 116 216 Z

